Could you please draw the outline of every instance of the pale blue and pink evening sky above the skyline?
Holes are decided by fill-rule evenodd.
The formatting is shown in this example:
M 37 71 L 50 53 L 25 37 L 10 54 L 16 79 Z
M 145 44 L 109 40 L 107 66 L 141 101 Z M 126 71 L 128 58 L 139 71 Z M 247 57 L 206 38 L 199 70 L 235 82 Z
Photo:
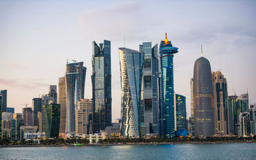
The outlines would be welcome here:
M 24 104 L 58 85 L 68 60 L 87 68 L 85 98 L 91 98 L 91 41 L 111 41 L 112 119 L 121 116 L 118 47 L 139 49 L 167 38 L 174 56 L 174 90 L 187 97 L 194 63 L 203 57 L 227 79 L 229 95 L 249 92 L 256 103 L 256 1 L 0 1 L 0 89 L 7 107 Z

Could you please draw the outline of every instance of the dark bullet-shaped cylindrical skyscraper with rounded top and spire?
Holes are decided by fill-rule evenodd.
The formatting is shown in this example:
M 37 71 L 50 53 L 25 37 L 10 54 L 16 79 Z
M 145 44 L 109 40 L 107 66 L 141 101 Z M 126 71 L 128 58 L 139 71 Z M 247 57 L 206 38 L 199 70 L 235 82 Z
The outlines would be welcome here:
M 214 135 L 214 92 L 211 77 L 211 65 L 203 57 L 194 65 L 193 108 L 196 137 Z

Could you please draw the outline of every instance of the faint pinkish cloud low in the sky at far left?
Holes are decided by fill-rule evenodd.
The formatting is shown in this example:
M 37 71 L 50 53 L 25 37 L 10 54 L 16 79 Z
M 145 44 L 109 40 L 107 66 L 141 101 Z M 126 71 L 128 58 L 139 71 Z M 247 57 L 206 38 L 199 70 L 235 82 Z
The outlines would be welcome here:
M 20 87 L 23 89 L 35 89 L 38 87 L 47 87 L 49 85 L 38 80 L 22 82 L 17 79 L 0 79 L 0 84 L 6 87 Z

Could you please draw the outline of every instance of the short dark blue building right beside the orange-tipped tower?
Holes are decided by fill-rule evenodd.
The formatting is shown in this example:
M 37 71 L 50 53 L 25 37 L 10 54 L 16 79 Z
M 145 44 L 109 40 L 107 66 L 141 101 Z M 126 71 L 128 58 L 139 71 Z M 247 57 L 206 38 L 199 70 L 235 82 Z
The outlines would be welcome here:
M 174 94 L 174 97 L 174 108 L 176 111 L 176 131 L 178 129 L 187 129 L 186 97 L 178 94 Z

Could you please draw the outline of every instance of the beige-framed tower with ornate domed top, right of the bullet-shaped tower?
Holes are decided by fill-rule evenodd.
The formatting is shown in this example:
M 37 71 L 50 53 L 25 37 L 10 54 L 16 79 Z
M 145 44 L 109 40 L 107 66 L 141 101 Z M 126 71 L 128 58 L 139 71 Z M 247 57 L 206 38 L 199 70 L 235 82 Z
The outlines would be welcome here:
M 227 80 L 220 71 L 212 73 L 214 84 L 214 134 L 228 134 Z

